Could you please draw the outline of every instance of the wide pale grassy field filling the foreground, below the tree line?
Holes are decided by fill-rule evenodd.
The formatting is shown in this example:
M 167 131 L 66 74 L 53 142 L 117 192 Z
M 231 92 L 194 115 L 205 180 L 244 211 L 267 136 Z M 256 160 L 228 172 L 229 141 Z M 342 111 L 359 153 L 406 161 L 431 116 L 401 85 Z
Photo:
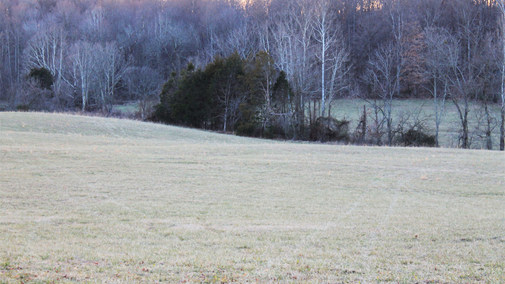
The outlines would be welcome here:
M 505 155 L 0 113 L 0 283 L 505 283 Z

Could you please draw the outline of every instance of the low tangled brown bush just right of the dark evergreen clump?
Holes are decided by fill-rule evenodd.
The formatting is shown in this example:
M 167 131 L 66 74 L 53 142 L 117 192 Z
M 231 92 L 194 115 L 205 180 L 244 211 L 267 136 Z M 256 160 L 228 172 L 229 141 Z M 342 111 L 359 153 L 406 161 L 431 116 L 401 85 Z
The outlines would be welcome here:
M 349 121 L 339 121 L 332 117 L 318 117 L 311 125 L 312 141 L 349 141 Z

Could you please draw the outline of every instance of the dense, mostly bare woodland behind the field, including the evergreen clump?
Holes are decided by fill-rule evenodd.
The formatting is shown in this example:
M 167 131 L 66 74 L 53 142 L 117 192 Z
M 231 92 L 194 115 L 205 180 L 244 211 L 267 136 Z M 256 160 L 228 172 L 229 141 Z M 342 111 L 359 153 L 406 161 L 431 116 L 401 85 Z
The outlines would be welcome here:
M 487 147 L 499 133 L 504 149 L 503 1 L 0 0 L 0 11 L 0 109 L 110 114 L 135 101 L 141 119 L 240 135 L 438 145 L 454 104 L 459 147 L 478 111 Z M 346 97 L 369 102 L 349 133 L 331 118 Z M 391 115 L 393 100 L 418 97 L 436 106 L 433 133 Z

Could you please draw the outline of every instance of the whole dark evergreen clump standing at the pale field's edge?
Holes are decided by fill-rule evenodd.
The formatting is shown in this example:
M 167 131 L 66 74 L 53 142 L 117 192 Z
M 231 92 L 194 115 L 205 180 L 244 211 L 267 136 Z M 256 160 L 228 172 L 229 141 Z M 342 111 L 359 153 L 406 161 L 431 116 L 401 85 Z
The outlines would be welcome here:
M 190 63 L 163 85 L 151 119 L 250 137 L 309 139 L 296 123 L 304 114 L 297 113 L 286 74 L 274 66 L 265 52 L 246 59 L 216 56 L 204 69 Z

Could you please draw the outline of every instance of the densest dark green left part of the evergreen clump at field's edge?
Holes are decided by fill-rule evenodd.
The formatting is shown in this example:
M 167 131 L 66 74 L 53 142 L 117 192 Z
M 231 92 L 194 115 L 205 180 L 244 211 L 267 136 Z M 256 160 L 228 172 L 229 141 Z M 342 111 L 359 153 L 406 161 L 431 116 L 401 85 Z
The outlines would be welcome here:
M 243 77 L 244 62 L 237 54 L 216 57 L 203 71 L 190 63 L 180 76 L 172 74 L 165 83 L 152 119 L 233 130 L 241 119 L 239 107 L 247 100 Z

